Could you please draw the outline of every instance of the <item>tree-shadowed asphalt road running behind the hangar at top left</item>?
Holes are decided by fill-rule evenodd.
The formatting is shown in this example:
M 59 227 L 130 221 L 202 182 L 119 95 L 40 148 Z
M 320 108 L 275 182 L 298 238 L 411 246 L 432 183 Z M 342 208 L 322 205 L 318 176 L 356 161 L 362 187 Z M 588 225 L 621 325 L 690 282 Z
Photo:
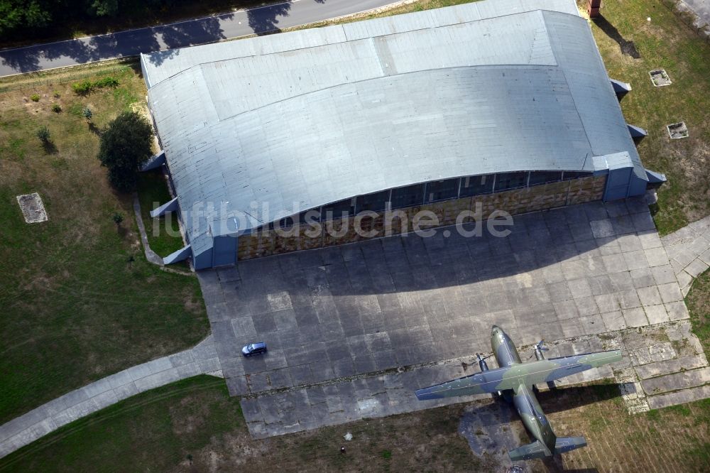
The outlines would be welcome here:
M 0 77 L 122 58 L 376 9 L 395 0 L 294 0 L 219 16 L 0 51 Z

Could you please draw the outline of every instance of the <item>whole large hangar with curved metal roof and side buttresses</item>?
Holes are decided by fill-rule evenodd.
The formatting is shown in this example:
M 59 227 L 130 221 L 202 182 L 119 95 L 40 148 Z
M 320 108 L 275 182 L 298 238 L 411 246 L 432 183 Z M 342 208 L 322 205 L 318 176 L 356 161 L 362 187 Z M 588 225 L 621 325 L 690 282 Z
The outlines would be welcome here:
M 572 0 L 499 0 L 141 56 L 195 268 L 642 195 Z M 616 91 L 615 91 L 616 89 Z M 394 217 L 393 217 L 394 216 Z M 470 219 L 470 217 L 469 217 Z M 354 231 L 357 222 L 366 229 Z

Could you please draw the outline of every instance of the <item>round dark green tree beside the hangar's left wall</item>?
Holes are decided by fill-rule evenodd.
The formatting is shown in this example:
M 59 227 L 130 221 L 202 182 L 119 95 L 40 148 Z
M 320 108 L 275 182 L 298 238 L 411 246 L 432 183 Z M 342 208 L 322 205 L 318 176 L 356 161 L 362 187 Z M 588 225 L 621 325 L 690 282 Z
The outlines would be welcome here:
M 136 112 L 124 112 L 101 135 L 99 161 L 109 170 L 109 182 L 119 192 L 136 187 L 136 175 L 151 156 L 153 129 Z

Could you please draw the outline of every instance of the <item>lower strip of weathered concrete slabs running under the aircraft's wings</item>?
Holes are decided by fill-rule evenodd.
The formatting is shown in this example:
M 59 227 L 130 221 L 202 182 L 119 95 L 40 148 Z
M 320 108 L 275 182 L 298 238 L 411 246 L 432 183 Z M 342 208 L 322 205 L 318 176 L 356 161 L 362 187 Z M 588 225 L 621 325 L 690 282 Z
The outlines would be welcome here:
M 569 376 L 558 381 L 557 387 L 565 388 L 599 379 L 612 379 L 611 382 L 625 386 L 626 391 L 621 391 L 620 396 L 623 394 L 630 411 L 648 411 L 649 408 L 655 408 L 653 406 L 672 405 L 701 398 L 699 396 L 705 392 L 695 386 L 704 382 L 706 370 L 710 368 L 707 367 L 704 354 L 697 353 L 694 343 L 686 338 L 692 337 L 688 329 L 689 322 L 686 320 L 643 327 L 640 330 L 607 331 L 601 335 L 561 339 L 549 342 L 550 351 L 547 352 L 547 356 L 557 357 L 621 347 L 624 354 L 622 361 Z M 683 341 L 677 344 L 679 351 L 674 349 L 671 339 Z M 521 346 L 519 350 L 525 353 L 530 350 L 530 345 Z M 489 361 L 491 361 L 491 368 L 494 368 L 496 366 L 494 359 Z M 677 373 L 679 369 L 687 369 L 691 366 L 697 368 L 694 369 L 695 374 Z M 452 403 L 491 399 L 490 395 L 479 395 L 422 402 L 417 401 L 414 396 L 417 388 L 473 374 L 475 371 L 477 366 L 473 357 L 459 357 L 437 361 L 434 364 L 409 366 L 406 369 L 334 379 L 308 387 L 297 386 L 289 388 L 286 393 L 268 391 L 256 393 L 243 398 L 243 411 L 252 435 L 268 437 L 322 425 L 351 422 L 361 418 L 384 417 Z M 666 376 L 670 373 L 673 374 Z M 686 382 L 673 376 L 684 376 Z M 650 389 L 645 391 L 642 384 L 647 379 L 656 385 L 666 386 L 669 390 L 675 386 L 686 388 L 685 391 L 690 392 L 678 394 L 651 392 Z M 542 391 L 547 389 L 545 386 L 540 388 Z M 285 399 L 288 393 L 292 393 L 290 402 Z M 293 393 L 297 396 L 293 396 Z M 489 404 L 484 403 L 482 406 L 486 411 L 488 408 L 486 406 Z

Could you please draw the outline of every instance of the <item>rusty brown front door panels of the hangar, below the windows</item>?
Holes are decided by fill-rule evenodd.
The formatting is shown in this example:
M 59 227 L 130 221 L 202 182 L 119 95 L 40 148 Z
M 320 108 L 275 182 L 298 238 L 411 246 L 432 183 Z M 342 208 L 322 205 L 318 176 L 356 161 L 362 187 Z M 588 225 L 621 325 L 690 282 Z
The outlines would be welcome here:
M 487 219 L 494 210 L 502 210 L 515 215 L 601 200 L 606 187 L 606 178 L 606 175 L 599 175 L 417 205 L 391 211 L 391 214 L 396 215 L 394 218 L 386 218 L 385 212 L 368 212 L 365 215 L 320 222 L 320 230 L 310 224 L 301 224 L 278 231 L 262 230 L 239 237 L 236 250 L 237 260 L 413 232 L 414 224 L 418 220 L 416 216 L 423 210 L 433 212 L 437 216 L 439 222 L 437 227 L 446 227 L 456 224 L 457 217 L 461 212 L 466 210 L 476 212 L 479 204 L 480 218 Z M 421 229 L 432 228 L 432 226 L 425 225 L 427 221 L 427 219 L 421 220 Z M 464 219 L 464 222 L 471 221 L 471 217 Z M 360 234 L 355 231 L 356 223 L 362 230 Z

